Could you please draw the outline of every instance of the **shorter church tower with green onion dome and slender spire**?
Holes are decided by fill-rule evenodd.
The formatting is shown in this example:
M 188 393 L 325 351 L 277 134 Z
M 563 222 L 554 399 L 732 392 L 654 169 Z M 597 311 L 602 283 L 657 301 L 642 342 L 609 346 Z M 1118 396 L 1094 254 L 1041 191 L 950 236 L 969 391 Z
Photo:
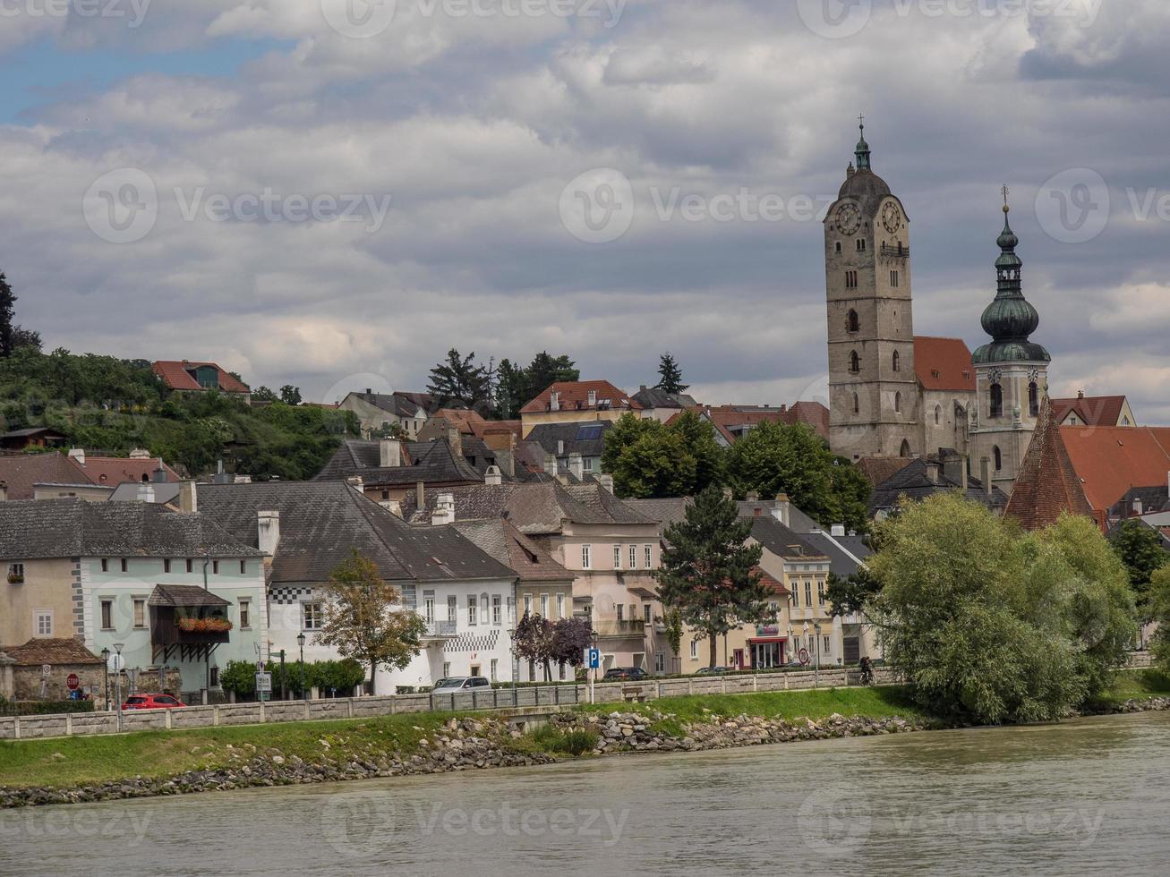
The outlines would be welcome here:
M 972 456 L 990 462 L 992 483 L 1005 493 L 1011 492 L 1040 419 L 1052 361 L 1048 351 L 1028 340 L 1040 325 L 1040 315 L 1024 298 L 1024 263 L 1016 255 L 1019 239 L 1007 221 L 1010 210 L 1004 186 L 1004 230 L 996 260 L 998 290 L 983 312 L 983 331 L 991 336 L 991 344 L 971 355 L 976 384 Z

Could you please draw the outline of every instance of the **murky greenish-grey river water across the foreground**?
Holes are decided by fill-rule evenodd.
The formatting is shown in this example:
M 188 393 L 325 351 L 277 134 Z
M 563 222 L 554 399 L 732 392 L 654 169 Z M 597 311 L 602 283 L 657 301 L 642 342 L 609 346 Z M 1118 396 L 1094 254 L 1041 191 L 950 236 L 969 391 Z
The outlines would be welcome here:
M 0 875 L 1166 873 L 1170 713 L 0 813 Z

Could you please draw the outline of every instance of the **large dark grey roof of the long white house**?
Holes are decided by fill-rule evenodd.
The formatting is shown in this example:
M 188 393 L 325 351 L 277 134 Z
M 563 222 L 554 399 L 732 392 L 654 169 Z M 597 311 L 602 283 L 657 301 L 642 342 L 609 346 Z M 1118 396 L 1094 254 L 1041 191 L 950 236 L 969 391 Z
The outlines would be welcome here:
M 344 482 L 201 484 L 199 507 L 250 545 L 257 513 L 281 513 L 271 582 L 328 581 L 353 550 L 388 581 L 512 578 L 454 530 L 412 527 Z

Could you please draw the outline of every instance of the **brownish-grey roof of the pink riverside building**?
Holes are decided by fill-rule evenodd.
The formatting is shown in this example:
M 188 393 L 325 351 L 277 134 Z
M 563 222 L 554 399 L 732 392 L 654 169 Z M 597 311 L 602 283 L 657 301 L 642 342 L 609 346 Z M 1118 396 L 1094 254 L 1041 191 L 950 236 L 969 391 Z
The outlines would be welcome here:
M 477 484 L 450 490 L 427 490 L 419 509 L 414 491 L 402 499 L 407 520 L 429 523 L 439 493 L 455 500 L 455 519 L 507 518 L 526 534 L 558 533 L 562 522 L 574 524 L 654 524 L 615 498 L 597 482 L 562 485 L 555 479 Z

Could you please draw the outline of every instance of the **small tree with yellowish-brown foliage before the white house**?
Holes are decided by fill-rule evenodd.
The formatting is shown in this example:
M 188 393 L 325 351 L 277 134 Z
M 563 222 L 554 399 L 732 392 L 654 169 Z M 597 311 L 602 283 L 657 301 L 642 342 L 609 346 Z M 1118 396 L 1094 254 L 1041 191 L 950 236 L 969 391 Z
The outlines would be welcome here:
M 376 693 L 379 667 L 400 670 L 419 654 L 426 622 L 400 608 L 398 588 L 384 581 L 378 566 L 357 551 L 333 569 L 322 596 L 325 622 L 314 638 L 369 667 L 370 693 Z

